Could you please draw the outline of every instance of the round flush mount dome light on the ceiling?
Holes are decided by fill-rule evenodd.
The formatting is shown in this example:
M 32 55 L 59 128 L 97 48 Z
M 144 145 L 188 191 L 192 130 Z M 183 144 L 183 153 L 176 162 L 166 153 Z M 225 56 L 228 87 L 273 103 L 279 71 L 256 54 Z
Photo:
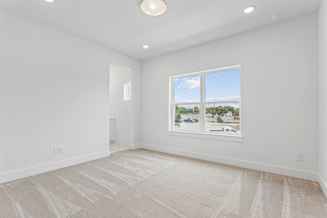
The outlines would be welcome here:
M 150 16 L 161 15 L 167 10 L 167 4 L 163 0 L 143 0 L 139 7 Z

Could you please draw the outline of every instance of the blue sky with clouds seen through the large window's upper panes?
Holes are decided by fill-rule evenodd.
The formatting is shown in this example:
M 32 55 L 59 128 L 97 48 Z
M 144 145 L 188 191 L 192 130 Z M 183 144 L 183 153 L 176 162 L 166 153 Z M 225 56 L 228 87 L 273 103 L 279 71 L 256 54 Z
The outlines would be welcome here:
M 175 103 L 200 102 L 200 76 L 174 80 Z M 205 75 L 205 100 L 228 101 L 240 99 L 240 70 Z

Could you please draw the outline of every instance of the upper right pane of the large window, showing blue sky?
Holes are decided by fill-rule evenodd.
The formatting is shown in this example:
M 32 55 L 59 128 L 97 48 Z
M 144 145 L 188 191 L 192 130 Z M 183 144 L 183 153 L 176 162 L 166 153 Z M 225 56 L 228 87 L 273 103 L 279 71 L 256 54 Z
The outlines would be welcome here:
M 205 75 L 205 101 L 240 100 L 240 69 Z

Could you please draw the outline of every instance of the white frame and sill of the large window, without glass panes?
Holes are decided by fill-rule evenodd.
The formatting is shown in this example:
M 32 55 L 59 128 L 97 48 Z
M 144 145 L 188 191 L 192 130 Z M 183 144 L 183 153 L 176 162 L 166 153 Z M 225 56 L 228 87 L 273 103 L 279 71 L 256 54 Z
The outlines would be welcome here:
M 217 72 L 224 72 L 229 70 L 241 70 L 241 65 L 234 65 L 222 68 L 216 68 L 211 70 L 204 70 L 198 72 L 192 72 L 190 74 L 183 74 L 178 76 L 171 76 L 169 77 L 169 127 L 168 127 L 168 134 L 169 135 L 179 135 L 179 136 L 188 136 L 188 137 L 198 137 L 198 138 L 210 138 L 210 139 L 219 139 L 219 140 L 228 140 L 228 141 L 243 141 L 242 136 L 242 128 L 240 130 L 240 134 L 231 134 L 231 133 L 221 133 L 221 132 L 211 132 L 205 131 L 205 105 L 206 104 L 229 104 L 229 103 L 239 103 L 240 104 L 240 125 L 242 122 L 241 119 L 241 81 L 240 81 L 240 100 L 232 100 L 232 101 L 205 101 L 205 75 L 213 74 Z M 200 102 L 187 102 L 187 103 L 175 103 L 174 102 L 174 80 L 185 78 L 185 77 L 194 77 L 200 76 Z M 240 73 L 240 80 L 241 80 L 241 73 Z M 179 130 L 174 129 L 175 124 L 175 105 L 183 106 L 183 105 L 199 105 L 200 109 L 200 130 L 199 131 L 192 131 L 192 130 Z M 242 125 L 241 125 L 242 126 Z

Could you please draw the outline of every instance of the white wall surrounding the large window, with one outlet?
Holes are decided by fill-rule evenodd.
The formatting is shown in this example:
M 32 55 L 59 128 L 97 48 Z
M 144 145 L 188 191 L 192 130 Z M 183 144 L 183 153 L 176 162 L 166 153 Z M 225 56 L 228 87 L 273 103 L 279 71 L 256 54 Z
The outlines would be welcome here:
M 317 51 L 312 13 L 143 61 L 142 148 L 317 180 Z M 168 77 L 237 64 L 243 142 L 168 135 Z

